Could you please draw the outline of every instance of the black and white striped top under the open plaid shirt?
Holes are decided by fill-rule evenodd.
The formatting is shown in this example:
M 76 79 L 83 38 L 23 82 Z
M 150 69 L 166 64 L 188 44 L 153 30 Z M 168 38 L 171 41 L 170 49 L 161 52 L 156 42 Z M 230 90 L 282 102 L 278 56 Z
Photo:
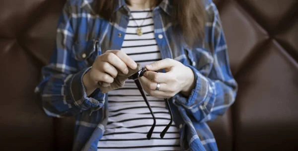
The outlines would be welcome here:
M 150 10 L 132 11 L 132 16 L 138 25 L 145 19 L 143 35 L 137 35 L 138 26 L 131 17 L 121 50 L 142 67 L 161 60 Z M 159 137 L 170 121 L 164 100 L 149 95 L 147 98 L 156 117 L 151 140 L 146 135 L 153 124 L 152 116 L 134 81 L 127 80 L 123 88 L 109 92 L 108 125 L 98 142 L 99 151 L 180 151 L 179 132 L 174 122 L 164 138 Z

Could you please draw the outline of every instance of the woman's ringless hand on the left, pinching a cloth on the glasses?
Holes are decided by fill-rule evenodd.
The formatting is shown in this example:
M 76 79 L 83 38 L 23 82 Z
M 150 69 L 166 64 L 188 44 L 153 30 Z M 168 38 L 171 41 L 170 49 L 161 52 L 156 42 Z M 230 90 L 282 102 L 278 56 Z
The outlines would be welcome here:
M 87 96 L 98 87 L 98 82 L 102 86 L 109 86 L 118 75 L 117 69 L 123 74 L 128 74 L 128 68 L 136 69 L 137 64 L 120 50 L 108 50 L 98 56 L 91 70 L 83 76 Z

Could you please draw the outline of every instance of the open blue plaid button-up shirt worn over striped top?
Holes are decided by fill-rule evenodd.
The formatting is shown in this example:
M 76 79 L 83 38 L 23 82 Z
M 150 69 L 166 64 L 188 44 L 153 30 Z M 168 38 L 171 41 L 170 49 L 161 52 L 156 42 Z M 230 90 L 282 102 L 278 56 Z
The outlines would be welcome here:
M 115 8 L 114 22 L 94 12 L 96 1 L 67 1 L 59 19 L 53 56 L 50 64 L 42 69 L 43 80 L 36 88 L 47 115 L 76 116 L 73 151 L 97 150 L 104 134 L 107 94 L 96 89 L 87 96 L 82 76 L 98 55 L 121 49 L 129 21 L 130 11 L 124 0 L 119 0 Z M 191 68 L 195 75 L 196 85 L 191 95 L 184 97 L 178 93 L 170 101 L 182 151 L 218 150 L 206 121 L 224 114 L 234 102 L 237 90 L 229 69 L 218 10 L 211 0 L 205 0 L 204 4 L 205 38 L 198 40 L 193 49 L 179 43 L 179 36 L 173 36 L 171 0 L 163 0 L 152 10 L 155 39 L 162 59 L 175 59 Z

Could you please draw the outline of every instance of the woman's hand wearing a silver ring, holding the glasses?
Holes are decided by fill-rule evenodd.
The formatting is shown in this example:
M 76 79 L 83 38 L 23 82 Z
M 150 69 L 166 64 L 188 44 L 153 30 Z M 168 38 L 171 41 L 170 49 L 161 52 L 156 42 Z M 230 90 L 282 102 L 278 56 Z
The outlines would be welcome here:
M 140 79 L 144 90 L 153 97 L 169 98 L 179 92 L 189 96 L 194 88 L 193 71 L 178 61 L 163 59 L 146 65 L 146 69 L 148 71 Z M 152 72 L 160 69 L 166 73 Z M 155 90 L 157 83 L 160 83 L 159 90 Z

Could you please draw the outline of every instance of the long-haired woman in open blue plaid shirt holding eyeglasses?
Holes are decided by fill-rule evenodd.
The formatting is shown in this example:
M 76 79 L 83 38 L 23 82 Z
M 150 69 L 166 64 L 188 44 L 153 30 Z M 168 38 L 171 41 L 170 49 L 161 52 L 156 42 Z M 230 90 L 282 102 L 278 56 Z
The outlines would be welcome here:
M 136 63 L 147 69 L 140 80 L 156 117 L 150 140 L 152 117 L 136 85 L 111 88 Z M 206 121 L 224 114 L 237 88 L 211 0 L 68 0 L 42 74 L 46 114 L 76 116 L 74 151 L 216 151 Z M 162 98 L 174 115 L 163 139 L 170 115 Z

